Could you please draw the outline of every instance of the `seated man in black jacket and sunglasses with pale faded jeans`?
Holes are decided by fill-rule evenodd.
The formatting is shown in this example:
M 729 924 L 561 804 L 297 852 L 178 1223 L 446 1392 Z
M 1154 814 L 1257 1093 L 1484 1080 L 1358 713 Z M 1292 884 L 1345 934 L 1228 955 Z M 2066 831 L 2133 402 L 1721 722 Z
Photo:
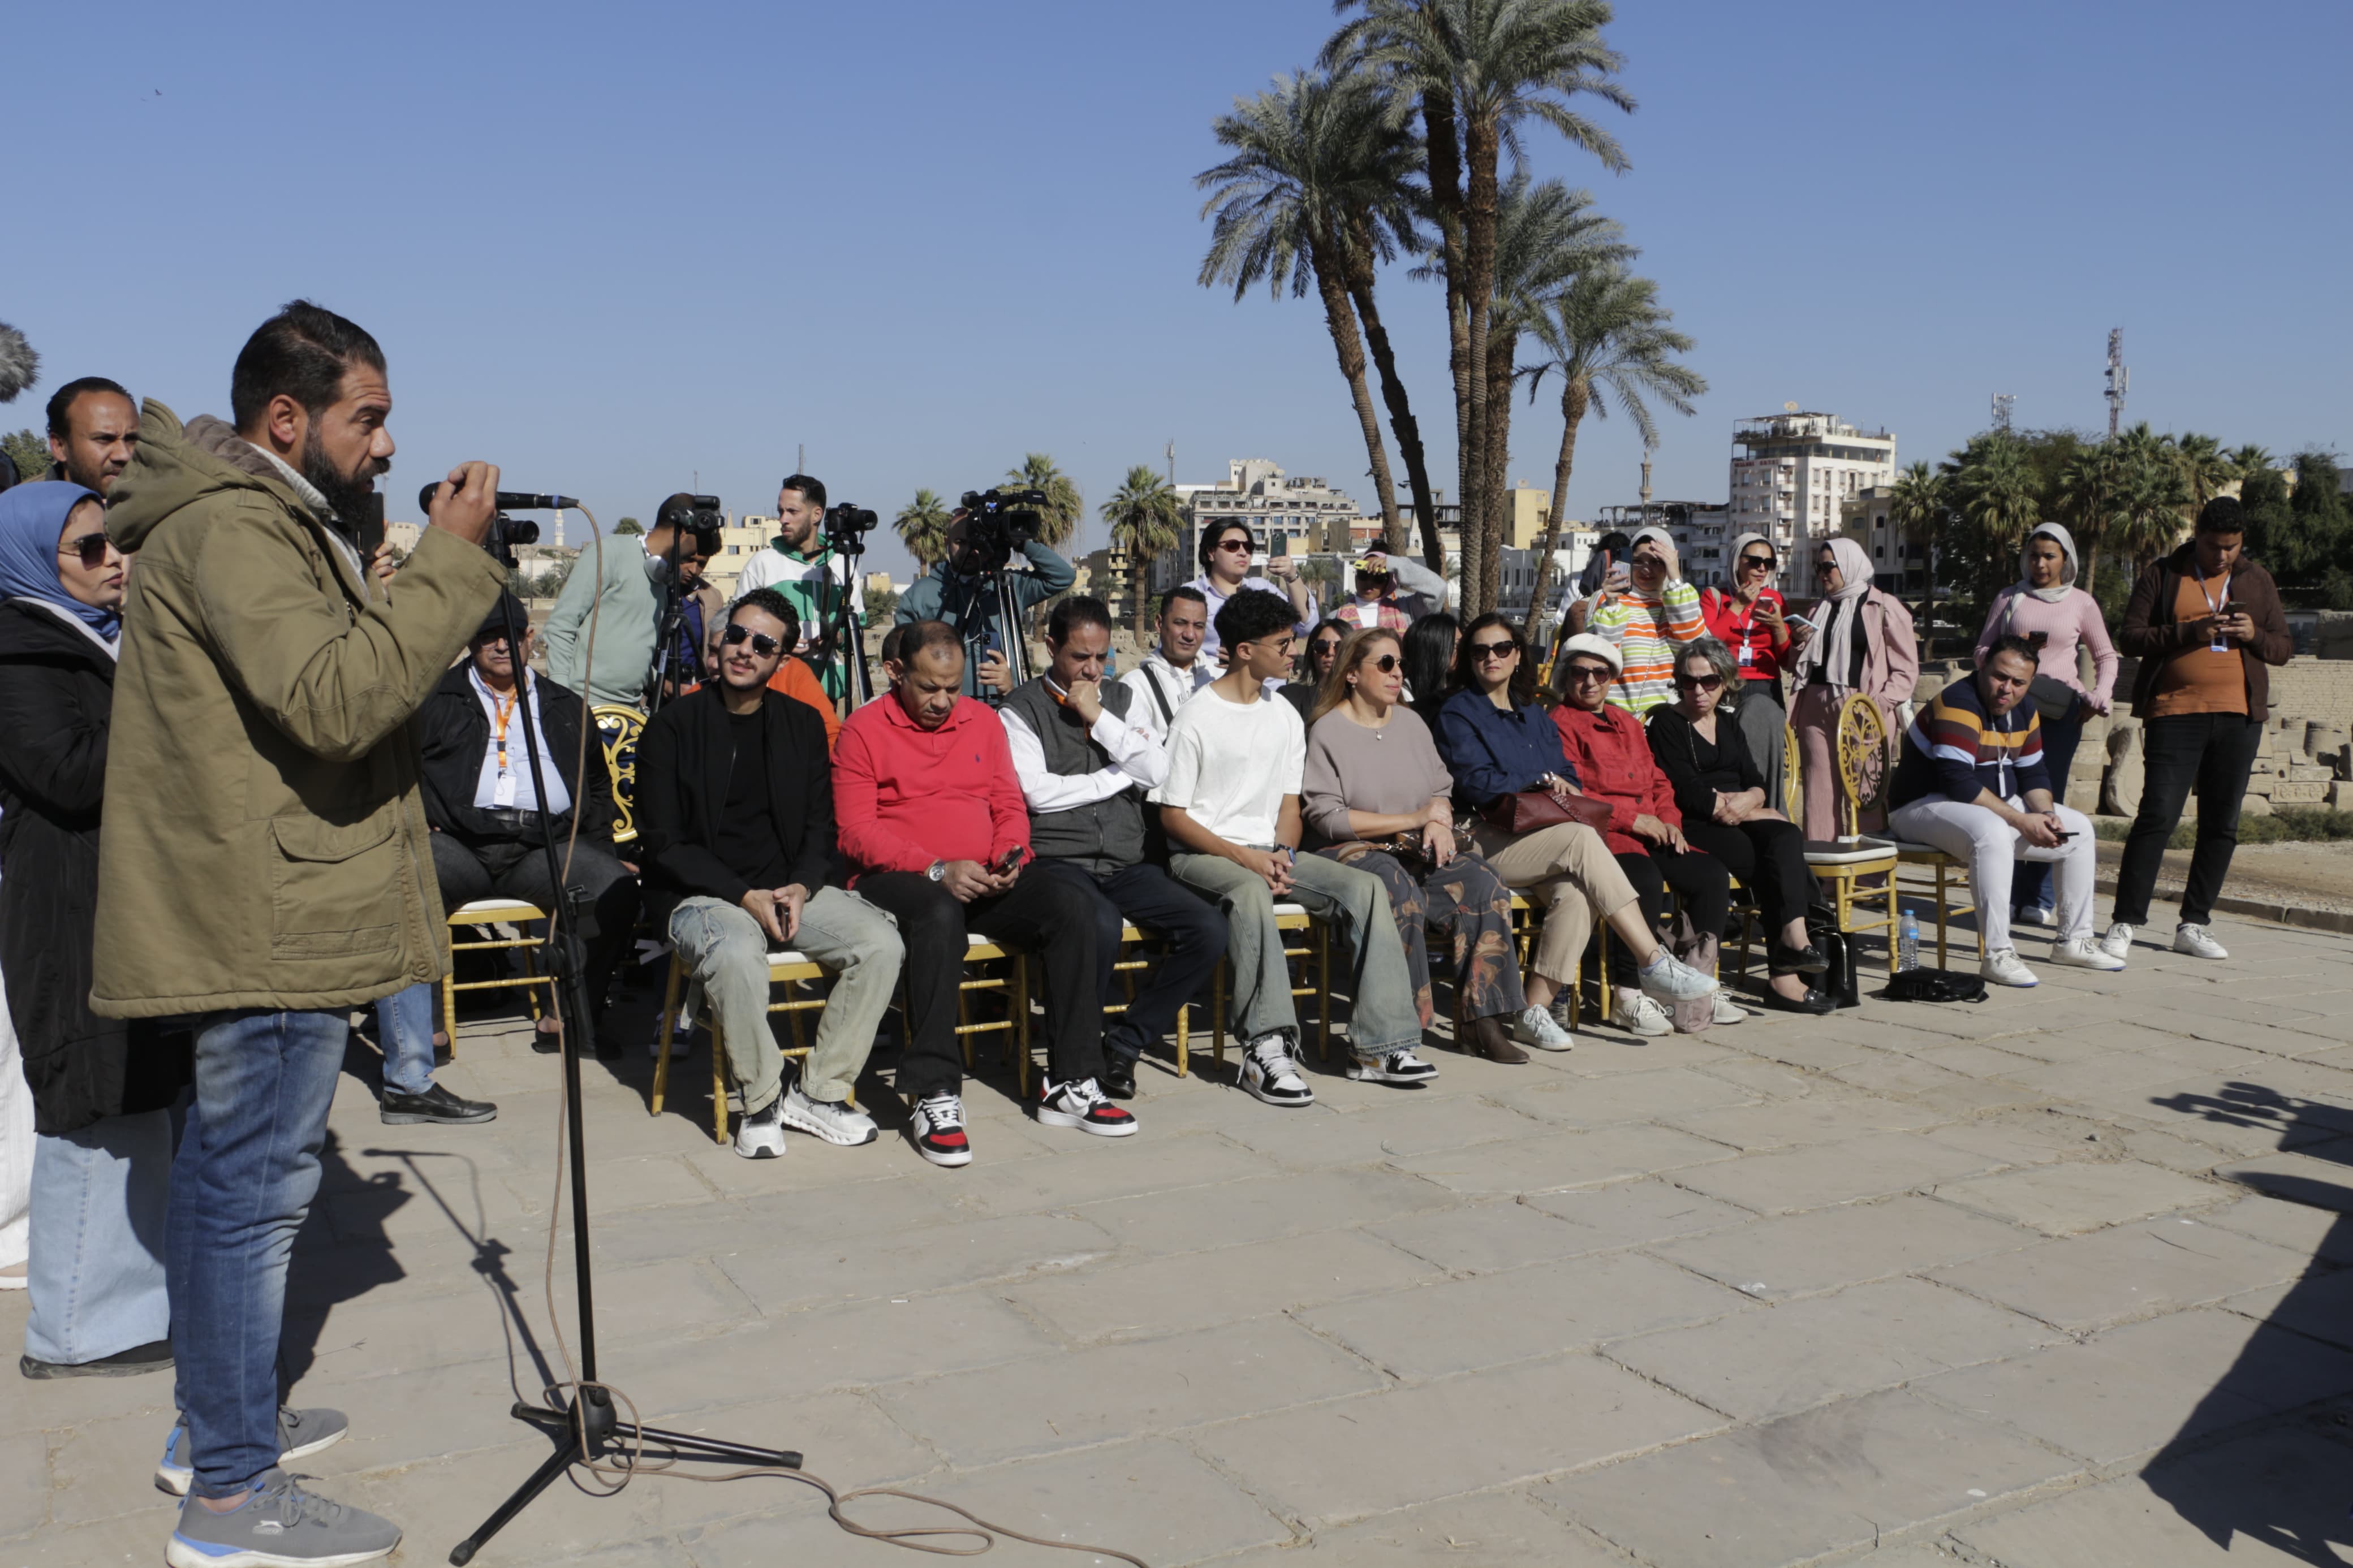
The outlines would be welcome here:
M 744 1103 L 736 1154 L 784 1154 L 784 1128 L 873 1143 L 849 1091 L 906 957 L 899 929 L 838 886 L 833 764 L 816 710 L 767 679 L 800 642 L 774 588 L 727 611 L 720 672 L 666 703 L 638 743 L 638 835 L 654 914 L 718 1013 Z M 767 1027 L 767 954 L 793 947 L 835 973 L 800 1081 L 781 1088 Z

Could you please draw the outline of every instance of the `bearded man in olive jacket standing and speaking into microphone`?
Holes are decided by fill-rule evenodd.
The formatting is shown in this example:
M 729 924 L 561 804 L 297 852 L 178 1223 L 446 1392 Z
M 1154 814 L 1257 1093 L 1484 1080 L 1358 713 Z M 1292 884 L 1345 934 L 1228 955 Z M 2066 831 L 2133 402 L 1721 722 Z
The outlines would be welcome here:
M 280 1469 L 341 1436 L 280 1410 L 287 1255 L 320 1182 L 351 1009 L 442 973 L 409 719 L 496 602 L 499 470 L 452 470 L 400 574 L 348 520 L 393 458 L 384 350 L 294 301 L 247 339 L 235 425 L 148 402 L 106 531 L 125 604 L 89 1006 L 195 1018 L 165 1274 L 193 1460 L 174 1561 L 360 1563 L 400 1528 Z

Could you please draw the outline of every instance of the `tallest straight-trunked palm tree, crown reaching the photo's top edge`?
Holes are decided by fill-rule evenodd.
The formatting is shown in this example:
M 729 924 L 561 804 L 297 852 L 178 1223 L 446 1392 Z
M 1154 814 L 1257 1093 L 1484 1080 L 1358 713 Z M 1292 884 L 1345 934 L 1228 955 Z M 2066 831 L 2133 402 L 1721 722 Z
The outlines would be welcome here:
M 1591 94 L 1633 110 L 1612 80 L 1619 56 L 1602 42 L 1607 0 L 1339 0 L 1362 7 L 1325 45 L 1325 61 L 1351 61 L 1391 82 L 1393 113 L 1421 113 L 1428 200 L 1447 275 L 1447 341 L 1454 371 L 1457 468 L 1461 482 L 1464 609 L 1485 581 L 1485 557 L 1501 536 L 1487 517 L 1489 329 L 1497 280 L 1501 155 L 1520 158 L 1520 129 L 1537 120 L 1609 169 L 1626 153 L 1569 108 Z

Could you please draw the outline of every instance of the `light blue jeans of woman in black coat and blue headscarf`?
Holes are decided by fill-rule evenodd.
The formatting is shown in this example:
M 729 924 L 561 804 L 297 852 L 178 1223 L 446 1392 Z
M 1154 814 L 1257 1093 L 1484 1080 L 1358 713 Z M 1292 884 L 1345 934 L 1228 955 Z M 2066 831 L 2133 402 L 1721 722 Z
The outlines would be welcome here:
M 106 1117 L 33 1147 L 24 1354 L 82 1363 L 172 1335 L 162 1279 L 172 1112 Z

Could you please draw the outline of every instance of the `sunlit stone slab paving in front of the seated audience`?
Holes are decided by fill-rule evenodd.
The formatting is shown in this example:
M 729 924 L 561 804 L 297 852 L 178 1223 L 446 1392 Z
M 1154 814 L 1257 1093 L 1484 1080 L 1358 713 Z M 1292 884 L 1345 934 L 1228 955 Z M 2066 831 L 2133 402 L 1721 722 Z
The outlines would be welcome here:
M 633 1056 L 588 1093 L 605 1371 L 1155 1568 L 2353 1561 L 2353 943 L 2219 931 L 2233 964 L 1442 1053 L 1297 1114 L 1155 1072 L 1129 1143 L 988 1070 L 962 1173 L 741 1161 L 692 1091 L 649 1119 Z M 409 1563 L 548 1453 L 506 1406 L 553 1359 L 553 1070 L 461 1044 L 499 1121 L 379 1126 L 360 1063 L 292 1281 L 299 1396 L 353 1415 L 306 1467 Z M 9 1385 L 0 1568 L 158 1561 L 167 1394 Z M 480 1561 L 911 1559 L 791 1483 L 640 1479 L 560 1483 Z

